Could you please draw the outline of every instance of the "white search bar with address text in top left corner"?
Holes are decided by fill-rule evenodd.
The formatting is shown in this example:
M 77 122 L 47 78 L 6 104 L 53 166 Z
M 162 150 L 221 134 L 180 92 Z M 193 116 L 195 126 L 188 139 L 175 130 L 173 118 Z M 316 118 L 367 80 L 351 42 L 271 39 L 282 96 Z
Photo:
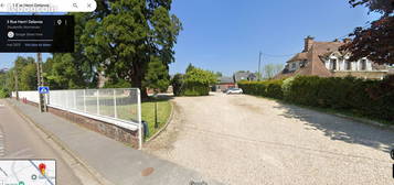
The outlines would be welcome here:
M 95 0 L 0 0 L 0 12 L 93 12 Z

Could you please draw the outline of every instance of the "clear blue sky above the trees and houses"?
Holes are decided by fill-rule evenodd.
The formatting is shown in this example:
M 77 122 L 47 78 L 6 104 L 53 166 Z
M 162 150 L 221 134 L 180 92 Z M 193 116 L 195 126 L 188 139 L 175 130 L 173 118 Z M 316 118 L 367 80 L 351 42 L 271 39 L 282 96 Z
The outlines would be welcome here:
M 285 64 L 290 56 L 270 55 L 300 52 L 307 35 L 318 41 L 343 37 L 377 18 L 365 8 L 351 8 L 348 0 L 173 0 L 172 12 L 184 30 L 171 74 L 184 72 L 189 63 L 225 75 L 256 72 L 259 51 L 263 65 Z M 35 57 L 0 54 L 0 68 L 12 66 L 18 55 Z

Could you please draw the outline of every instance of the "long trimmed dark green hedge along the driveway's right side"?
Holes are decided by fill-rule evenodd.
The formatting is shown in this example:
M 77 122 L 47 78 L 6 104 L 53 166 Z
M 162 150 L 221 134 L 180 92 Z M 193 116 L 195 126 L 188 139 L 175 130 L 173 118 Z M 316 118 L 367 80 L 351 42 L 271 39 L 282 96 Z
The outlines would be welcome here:
M 284 99 L 305 106 L 349 110 L 394 122 L 394 76 L 383 80 L 297 76 L 285 80 L 242 81 L 238 86 L 248 95 Z

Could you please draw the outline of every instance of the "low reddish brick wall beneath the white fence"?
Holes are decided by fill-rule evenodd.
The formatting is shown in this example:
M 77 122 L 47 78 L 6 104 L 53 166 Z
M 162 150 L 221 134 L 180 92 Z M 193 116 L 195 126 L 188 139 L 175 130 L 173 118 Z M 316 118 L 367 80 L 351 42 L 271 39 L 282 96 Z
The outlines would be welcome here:
M 25 101 L 25 104 L 38 107 L 38 104 L 35 102 Z M 86 129 L 89 129 L 97 133 L 102 133 L 116 141 L 130 144 L 132 148 L 138 149 L 138 130 L 131 131 L 111 123 L 107 123 L 100 120 L 87 118 L 81 115 L 72 113 L 52 107 L 47 107 L 47 111 L 58 117 L 65 118 L 74 123 L 77 123 Z

